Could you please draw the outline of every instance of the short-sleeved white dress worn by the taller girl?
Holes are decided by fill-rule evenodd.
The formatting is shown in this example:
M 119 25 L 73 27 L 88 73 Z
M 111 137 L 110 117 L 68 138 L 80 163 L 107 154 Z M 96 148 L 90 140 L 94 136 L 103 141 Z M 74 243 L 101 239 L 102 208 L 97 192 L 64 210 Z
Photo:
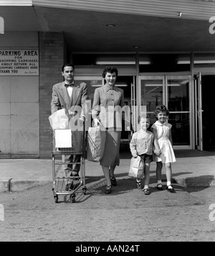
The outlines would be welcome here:
M 161 149 L 161 155 L 159 157 L 154 154 L 155 162 L 173 163 L 176 162 L 176 157 L 173 151 L 173 146 L 169 140 L 169 131 L 172 125 L 167 122 L 161 124 L 156 121 L 151 128 L 156 129 L 156 137 L 158 139 L 158 145 Z

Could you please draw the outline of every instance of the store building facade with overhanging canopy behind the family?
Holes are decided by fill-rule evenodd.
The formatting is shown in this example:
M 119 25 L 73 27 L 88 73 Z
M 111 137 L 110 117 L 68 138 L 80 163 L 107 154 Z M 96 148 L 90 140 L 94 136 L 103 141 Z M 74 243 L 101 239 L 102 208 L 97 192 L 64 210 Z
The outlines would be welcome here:
M 0 157 L 51 156 L 52 86 L 67 62 L 91 100 L 103 68 L 118 68 L 133 129 L 165 104 L 174 148 L 213 149 L 214 16 L 214 1 L 0 1 Z

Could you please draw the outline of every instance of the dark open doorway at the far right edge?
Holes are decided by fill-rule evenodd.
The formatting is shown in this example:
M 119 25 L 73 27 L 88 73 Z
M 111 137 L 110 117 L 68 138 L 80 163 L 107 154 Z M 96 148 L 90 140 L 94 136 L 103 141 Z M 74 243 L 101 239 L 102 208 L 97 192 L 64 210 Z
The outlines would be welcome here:
M 202 76 L 203 150 L 215 151 L 214 107 L 215 76 Z

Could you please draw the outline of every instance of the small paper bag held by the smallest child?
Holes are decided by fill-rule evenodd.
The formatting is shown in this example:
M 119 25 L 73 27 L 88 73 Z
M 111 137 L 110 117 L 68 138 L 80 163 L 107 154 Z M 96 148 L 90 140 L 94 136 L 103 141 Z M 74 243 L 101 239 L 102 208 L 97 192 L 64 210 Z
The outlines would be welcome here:
M 144 162 L 141 157 L 132 157 L 130 160 L 130 169 L 128 176 L 135 178 L 144 178 Z

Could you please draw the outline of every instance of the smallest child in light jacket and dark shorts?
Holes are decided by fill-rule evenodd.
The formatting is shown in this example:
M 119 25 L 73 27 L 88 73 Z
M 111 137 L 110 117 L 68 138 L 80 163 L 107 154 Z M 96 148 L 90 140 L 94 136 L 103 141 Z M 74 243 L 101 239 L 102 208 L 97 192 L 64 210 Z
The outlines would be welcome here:
M 150 165 L 151 162 L 153 162 L 153 133 L 148 131 L 148 127 L 150 126 L 149 116 L 147 114 L 138 116 L 138 124 L 140 125 L 140 129 L 132 136 L 130 141 L 130 152 L 133 158 L 141 157 L 143 160 L 143 171 L 145 175 L 143 191 L 145 195 L 149 195 L 150 191 L 148 184 L 150 180 Z M 136 184 L 138 189 L 142 189 L 141 180 L 137 176 Z

